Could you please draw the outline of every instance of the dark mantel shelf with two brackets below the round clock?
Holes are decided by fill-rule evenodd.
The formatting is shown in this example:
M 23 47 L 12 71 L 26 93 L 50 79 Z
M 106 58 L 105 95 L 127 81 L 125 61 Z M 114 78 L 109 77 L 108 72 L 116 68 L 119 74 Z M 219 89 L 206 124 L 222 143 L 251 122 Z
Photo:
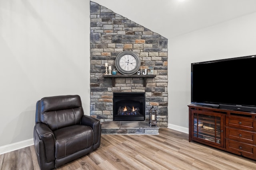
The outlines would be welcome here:
M 132 77 L 137 77 L 137 78 L 144 78 L 144 83 L 143 86 L 146 87 L 147 84 L 147 78 L 153 78 L 156 77 L 156 75 L 152 74 L 146 74 L 146 75 L 138 75 L 138 74 L 132 74 L 132 75 L 124 75 L 124 74 L 116 74 L 116 75 L 103 75 L 105 78 L 112 78 L 112 86 L 116 86 L 116 78 L 132 78 Z

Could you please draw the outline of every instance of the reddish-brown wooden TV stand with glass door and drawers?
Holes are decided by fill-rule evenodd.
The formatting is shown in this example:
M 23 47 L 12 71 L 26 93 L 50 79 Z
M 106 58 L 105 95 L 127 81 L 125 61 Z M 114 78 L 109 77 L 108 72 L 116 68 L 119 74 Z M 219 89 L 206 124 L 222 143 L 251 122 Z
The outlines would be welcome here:
M 256 160 L 256 113 L 190 104 L 189 142 Z

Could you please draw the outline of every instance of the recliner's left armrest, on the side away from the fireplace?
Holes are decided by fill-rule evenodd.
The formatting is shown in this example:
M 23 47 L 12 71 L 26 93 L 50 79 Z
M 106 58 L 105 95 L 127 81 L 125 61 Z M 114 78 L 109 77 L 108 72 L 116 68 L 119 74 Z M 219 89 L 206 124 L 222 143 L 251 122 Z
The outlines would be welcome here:
M 54 150 L 55 150 L 55 138 L 54 133 L 51 129 L 44 123 L 36 123 L 36 132 L 40 140 L 44 142 L 46 160 L 51 162 L 55 160 Z

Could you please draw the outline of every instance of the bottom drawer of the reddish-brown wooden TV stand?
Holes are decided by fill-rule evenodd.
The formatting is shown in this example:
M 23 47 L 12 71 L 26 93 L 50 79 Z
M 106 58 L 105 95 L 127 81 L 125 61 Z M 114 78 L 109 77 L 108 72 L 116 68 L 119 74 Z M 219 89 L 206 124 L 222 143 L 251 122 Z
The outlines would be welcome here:
M 246 156 L 248 158 L 256 158 L 256 146 L 238 141 L 226 139 L 226 149 L 229 152 Z

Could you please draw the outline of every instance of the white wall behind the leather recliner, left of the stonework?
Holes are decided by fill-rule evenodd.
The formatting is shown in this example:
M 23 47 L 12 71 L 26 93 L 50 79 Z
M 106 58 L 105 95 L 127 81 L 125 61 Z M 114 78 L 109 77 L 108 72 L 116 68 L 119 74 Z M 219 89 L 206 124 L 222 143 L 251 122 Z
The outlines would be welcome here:
M 90 1 L 1 0 L 0 147 L 33 138 L 37 100 L 67 94 L 90 115 Z

